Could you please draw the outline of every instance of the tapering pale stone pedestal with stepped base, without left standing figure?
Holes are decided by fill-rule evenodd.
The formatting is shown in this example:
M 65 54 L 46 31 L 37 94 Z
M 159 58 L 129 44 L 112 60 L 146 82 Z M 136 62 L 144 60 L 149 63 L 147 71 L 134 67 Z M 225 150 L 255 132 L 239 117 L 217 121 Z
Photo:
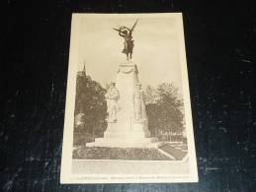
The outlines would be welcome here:
M 119 91 L 116 122 L 108 122 L 104 138 L 96 138 L 87 146 L 146 148 L 152 147 L 156 138 L 150 137 L 147 128 L 142 89 L 137 77 L 138 71 L 131 61 L 121 64 L 117 74 L 116 88 Z

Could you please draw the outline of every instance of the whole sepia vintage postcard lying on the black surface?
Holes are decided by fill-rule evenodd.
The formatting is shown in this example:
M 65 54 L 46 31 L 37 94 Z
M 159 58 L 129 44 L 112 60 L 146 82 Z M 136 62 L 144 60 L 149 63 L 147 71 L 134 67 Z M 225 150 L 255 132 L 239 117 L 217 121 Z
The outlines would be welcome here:
M 198 182 L 181 13 L 72 15 L 60 182 Z

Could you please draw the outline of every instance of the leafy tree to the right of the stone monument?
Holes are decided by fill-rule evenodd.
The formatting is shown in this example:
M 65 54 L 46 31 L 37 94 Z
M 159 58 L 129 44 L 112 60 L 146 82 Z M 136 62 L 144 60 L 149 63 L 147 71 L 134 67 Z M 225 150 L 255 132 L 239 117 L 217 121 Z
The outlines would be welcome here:
M 184 129 L 183 101 L 172 84 L 162 83 L 156 89 L 148 86 L 144 93 L 148 127 L 153 135 L 181 134 Z

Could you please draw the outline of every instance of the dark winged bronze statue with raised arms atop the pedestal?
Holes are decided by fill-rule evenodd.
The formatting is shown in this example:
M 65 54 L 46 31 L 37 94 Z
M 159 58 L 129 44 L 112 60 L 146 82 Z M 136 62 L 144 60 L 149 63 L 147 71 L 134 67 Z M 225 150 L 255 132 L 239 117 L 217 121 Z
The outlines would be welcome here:
M 124 49 L 122 52 L 127 55 L 127 59 L 131 59 L 132 50 L 133 50 L 133 46 L 134 46 L 134 40 L 132 38 L 131 33 L 133 32 L 133 30 L 136 26 L 136 23 L 137 23 L 137 20 L 131 29 L 128 29 L 125 26 L 121 27 L 120 29 L 113 29 L 113 30 L 119 32 L 119 35 L 121 35 L 125 38 Z

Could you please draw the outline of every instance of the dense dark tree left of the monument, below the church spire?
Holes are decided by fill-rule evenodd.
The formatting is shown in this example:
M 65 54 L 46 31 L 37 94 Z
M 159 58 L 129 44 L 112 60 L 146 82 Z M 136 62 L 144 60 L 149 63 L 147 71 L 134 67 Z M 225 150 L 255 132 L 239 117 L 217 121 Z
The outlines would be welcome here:
M 77 75 L 75 99 L 76 134 L 92 135 L 106 129 L 106 90 L 90 76 Z M 81 123 L 78 123 L 78 122 Z

